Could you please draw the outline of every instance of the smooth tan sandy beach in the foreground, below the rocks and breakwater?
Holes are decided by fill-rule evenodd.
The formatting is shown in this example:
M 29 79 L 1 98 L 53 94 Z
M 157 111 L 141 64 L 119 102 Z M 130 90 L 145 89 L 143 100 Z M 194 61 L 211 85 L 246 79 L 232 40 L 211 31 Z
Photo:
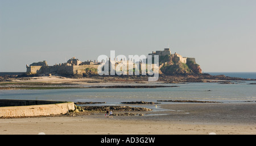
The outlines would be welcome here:
M 0 134 L 256 134 L 255 103 L 180 103 L 144 116 L 0 119 Z M 150 115 L 147 115 L 150 114 Z

